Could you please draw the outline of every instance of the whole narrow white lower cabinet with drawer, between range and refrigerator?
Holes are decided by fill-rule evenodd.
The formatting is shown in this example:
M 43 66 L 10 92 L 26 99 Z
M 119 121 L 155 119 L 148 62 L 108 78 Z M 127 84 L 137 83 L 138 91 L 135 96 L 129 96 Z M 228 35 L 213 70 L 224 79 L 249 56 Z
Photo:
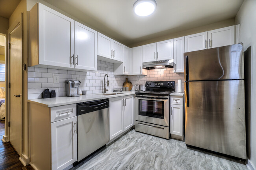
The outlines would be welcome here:
M 183 96 L 171 96 L 171 116 L 170 116 L 170 133 L 171 137 L 183 139 L 184 127 L 184 109 Z

